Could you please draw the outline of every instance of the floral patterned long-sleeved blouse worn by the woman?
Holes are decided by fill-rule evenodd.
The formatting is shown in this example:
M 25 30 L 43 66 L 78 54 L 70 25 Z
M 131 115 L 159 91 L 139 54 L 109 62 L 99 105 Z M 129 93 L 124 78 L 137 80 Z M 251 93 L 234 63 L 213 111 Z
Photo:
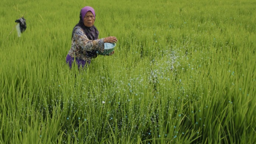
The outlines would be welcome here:
M 96 58 L 95 51 L 104 50 L 104 38 L 97 40 L 89 40 L 81 28 L 77 28 L 74 31 L 72 37 L 71 48 L 68 51 L 68 55 L 78 58 L 79 60 L 89 61 L 92 58 Z M 93 54 L 93 55 L 90 55 Z

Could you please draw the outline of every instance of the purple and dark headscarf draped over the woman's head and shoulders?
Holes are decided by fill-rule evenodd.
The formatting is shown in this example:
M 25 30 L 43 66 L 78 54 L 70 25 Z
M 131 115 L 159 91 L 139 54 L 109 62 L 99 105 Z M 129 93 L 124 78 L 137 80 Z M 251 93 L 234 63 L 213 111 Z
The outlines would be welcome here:
M 86 6 L 86 7 L 83 7 L 80 11 L 80 19 L 79 19 L 79 22 L 77 25 L 75 25 L 73 31 L 72 31 L 72 37 L 74 35 L 74 31 L 76 28 L 82 28 L 83 29 L 83 32 L 85 33 L 85 35 L 88 37 L 89 40 L 96 40 L 99 36 L 99 31 L 97 30 L 97 28 L 93 25 L 92 27 L 86 27 L 84 24 L 83 24 L 83 18 L 85 17 L 85 14 L 88 12 L 88 11 L 91 11 L 92 14 L 94 15 L 95 17 L 95 11 L 92 7 L 89 7 L 89 6 Z M 72 38 L 71 37 L 71 38 Z

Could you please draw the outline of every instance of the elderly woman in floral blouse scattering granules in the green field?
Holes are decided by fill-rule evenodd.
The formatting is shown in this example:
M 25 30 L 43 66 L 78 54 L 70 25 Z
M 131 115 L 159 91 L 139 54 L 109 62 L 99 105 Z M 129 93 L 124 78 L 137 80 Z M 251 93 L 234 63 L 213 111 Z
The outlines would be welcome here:
M 90 64 L 92 58 L 97 57 L 96 51 L 104 50 L 104 43 L 116 43 L 114 36 L 99 39 L 99 31 L 94 26 L 95 11 L 92 7 L 83 7 L 80 11 L 80 20 L 72 31 L 72 44 L 66 57 L 66 62 L 72 67 L 76 61 L 78 68 Z M 112 55 L 114 51 L 110 54 Z

